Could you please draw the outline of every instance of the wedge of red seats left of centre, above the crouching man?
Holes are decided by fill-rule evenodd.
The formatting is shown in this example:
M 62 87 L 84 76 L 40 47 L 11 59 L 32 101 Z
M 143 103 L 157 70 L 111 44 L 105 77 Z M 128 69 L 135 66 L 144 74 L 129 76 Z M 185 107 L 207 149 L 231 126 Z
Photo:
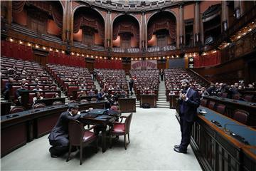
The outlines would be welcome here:
M 70 99 L 77 100 L 78 93 L 81 90 L 88 94 L 92 89 L 97 94 L 96 87 L 87 68 L 47 64 L 46 69 Z M 82 85 L 84 88 L 81 87 Z

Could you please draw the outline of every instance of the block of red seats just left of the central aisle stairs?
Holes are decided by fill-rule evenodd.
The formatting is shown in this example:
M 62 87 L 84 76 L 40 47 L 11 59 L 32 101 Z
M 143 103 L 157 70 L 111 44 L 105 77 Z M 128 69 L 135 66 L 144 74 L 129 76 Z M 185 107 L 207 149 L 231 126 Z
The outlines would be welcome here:
M 122 89 L 128 93 L 128 84 L 124 70 L 98 69 L 97 81 L 100 83 L 100 87 L 105 88 L 109 94 L 119 93 Z

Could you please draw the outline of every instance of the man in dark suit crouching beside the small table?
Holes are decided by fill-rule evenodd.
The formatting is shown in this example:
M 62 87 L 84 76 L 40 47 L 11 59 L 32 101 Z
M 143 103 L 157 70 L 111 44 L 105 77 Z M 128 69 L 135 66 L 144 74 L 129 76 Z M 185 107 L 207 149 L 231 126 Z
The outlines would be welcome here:
M 68 105 L 68 111 L 60 114 L 58 121 L 49 135 L 50 145 L 50 156 L 58 157 L 68 152 L 68 123 L 70 120 L 77 120 L 80 117 L 78 114 L 78 105 Z

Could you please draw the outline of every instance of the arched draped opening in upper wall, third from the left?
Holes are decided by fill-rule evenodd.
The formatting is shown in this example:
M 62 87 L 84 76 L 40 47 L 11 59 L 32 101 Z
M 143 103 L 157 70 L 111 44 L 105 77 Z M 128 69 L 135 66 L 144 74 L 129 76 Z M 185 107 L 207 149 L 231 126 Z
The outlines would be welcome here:
M 134 16 L 122 15 L 113 22 L 113 50 L 139 51 L 139 22 Z

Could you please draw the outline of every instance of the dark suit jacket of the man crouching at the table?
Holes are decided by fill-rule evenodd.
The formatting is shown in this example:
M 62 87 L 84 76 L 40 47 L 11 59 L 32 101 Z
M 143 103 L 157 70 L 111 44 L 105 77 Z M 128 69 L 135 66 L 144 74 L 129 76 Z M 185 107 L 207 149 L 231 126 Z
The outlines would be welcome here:
M 80 115 L 72 116 L 70 113 L 63 112 L 60 114 L 58 121 L 49 135 L 50 140 L 59 140 L 60 138 L 68 138 L 68 122 L 70 120 L 76 120 Z

